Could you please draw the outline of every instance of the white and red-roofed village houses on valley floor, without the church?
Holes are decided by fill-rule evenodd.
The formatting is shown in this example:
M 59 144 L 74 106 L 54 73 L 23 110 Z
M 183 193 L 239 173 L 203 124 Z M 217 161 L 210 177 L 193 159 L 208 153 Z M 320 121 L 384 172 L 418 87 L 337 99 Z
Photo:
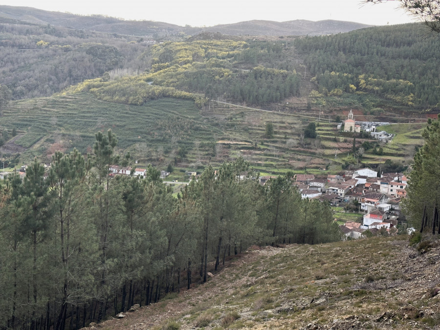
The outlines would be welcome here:
M 110 167 L 110 175 L 145 176 L 145 169 Z M 161 177 L 169 175 L 161 171 Z M 188 172 L 190 178 L 198 178 L 196 172 Z M 244 177 L 244 176 L 243 176 Z M 241 177 L 242 178 L 242 177 Z M 258 182 L 265 185 L 275 176 L 260 176 Z M 313 174 L 296 174 L 293 183 L 301 194 L 301 198 L 317 199 L 329 202 L 331 206 L 355 206 L 353 213 L 362 216 L 362 223 L 347 221 L 339 226 L 345 235 L 344 239 L 361 238 L 367 233 L 378 235 L 380 231 L 388 234 L 396 233 L 400 216 L 400 202 L 406 197 L 407 177 L 403 173 L 378 174 L 368 168 L 345 171 L 343 175 L 315 177 Z M 337 219 L 335 219 L 337 220 Z

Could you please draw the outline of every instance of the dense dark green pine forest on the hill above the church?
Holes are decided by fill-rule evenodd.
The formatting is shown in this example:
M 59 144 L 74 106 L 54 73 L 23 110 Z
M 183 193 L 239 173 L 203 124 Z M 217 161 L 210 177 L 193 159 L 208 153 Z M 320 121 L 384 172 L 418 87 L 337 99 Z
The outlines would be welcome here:
M 326 95 L 367 92 L 405 106 L 439 108 L 440 41 L 420 23 L 295 40 Z

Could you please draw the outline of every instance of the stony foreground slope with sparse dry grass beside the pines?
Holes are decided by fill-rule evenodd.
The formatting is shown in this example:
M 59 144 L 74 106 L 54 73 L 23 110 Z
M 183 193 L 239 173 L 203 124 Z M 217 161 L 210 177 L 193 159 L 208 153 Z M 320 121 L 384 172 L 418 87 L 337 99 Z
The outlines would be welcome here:
M 206 284 L 95 328 L 438 329 L 438 238 L 425 253 L 407 239 L 255 248 Z

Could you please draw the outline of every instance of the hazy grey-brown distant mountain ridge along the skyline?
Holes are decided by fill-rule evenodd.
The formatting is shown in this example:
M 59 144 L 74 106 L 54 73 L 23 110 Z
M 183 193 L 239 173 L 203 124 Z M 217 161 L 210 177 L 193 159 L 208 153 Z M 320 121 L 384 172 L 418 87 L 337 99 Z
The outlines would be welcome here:
M 81 16 L 70 13 L 46 11 L 31 7 L 15 7 L 0 5 L 0 22 L 17 23 L 29 22 L 33 24 L 51 24 L 67 28 L 93 30 L 107 33 L 127 34 L 145 37 L 163 37 L 184 32 L 196 35 L 201 32 L 219 32 L 227 35 L 325 35 L 369 27 L 372 25 L 343 21 L 306 21 L 295 20 L 274 22 L 253 20 L 233 24 L 220 24 L 208 27 L 179 26 L 166 22 L 154 21 L 125 21 L 102 15 Z M 20 22 L 19 22 L 20 21 Z

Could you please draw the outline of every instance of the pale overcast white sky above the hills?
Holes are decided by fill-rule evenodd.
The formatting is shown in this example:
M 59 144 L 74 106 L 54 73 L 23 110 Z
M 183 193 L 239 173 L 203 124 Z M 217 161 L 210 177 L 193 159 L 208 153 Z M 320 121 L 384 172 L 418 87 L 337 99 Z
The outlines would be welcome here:
M 380 4 L 365 4 L 362 0 L 0 0 L 0 4 L 180 26 L 213 26 L 250 20 L 337 20 L 371 25 L 415 22 L 398 8 L 398 0 Z

